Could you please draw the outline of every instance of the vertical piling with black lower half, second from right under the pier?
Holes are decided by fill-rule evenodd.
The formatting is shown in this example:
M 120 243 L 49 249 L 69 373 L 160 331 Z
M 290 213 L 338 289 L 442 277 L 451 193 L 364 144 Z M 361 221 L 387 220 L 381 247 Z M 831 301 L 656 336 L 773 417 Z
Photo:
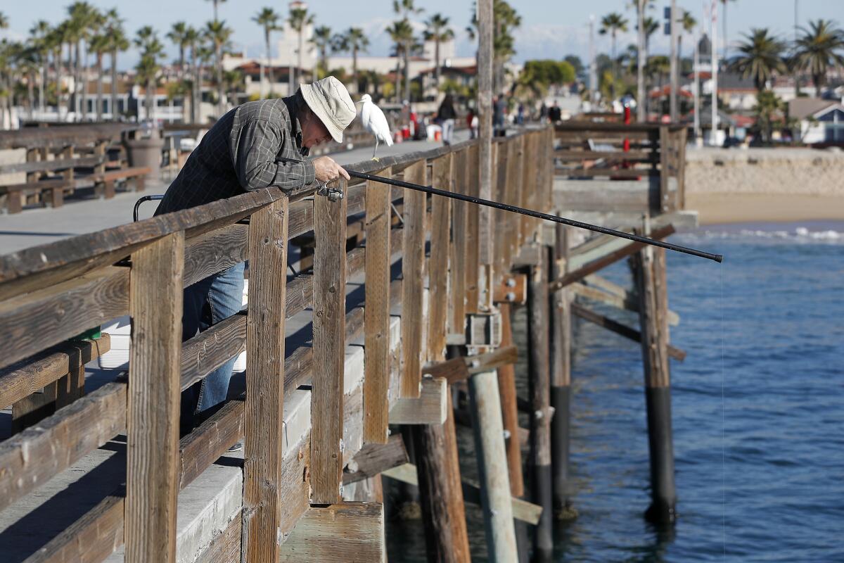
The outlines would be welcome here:
M 565 225 L 556 225 L 550 279 L 568 270 L 568 236 Z M 559 520 L 577 516 L 569 494 L 569 443 L 571 439 L 571 290 L 561 288 L 550 296 L 551 306 L 551 466 L 553 468 L 554 515 Z

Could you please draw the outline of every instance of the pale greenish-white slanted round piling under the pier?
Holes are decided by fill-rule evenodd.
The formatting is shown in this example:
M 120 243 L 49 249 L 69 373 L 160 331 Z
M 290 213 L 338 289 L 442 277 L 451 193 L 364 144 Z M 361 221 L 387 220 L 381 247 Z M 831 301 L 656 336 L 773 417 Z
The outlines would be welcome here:
M 483 371 L 469 377 L 469 409 L 472 411 L 489 560 L 505 563 L 518 560 L 518 555 L 496 380 L 495 371 Z

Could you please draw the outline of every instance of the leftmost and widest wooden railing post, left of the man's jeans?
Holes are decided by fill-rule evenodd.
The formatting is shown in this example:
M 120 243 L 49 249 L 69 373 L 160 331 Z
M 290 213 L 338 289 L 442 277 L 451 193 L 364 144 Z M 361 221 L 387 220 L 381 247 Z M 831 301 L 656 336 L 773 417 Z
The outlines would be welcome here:
M 185 235 L 132 255 L 127 392 L 126 560 L 176 560 L 179 365 Z

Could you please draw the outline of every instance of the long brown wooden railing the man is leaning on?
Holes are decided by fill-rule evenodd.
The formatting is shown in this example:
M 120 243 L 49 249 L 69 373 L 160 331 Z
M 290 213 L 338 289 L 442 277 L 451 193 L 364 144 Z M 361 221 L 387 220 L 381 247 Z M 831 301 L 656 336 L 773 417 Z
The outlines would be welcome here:
M 550 146 L 547 128 L 496 141 L 494 198 L 548 211 Z M 352 168 L 479 193 L 476 141 Z M 54 382 L 62 397 L 54 414 L 0 443 L 0 510 L 116 435 L 125 433 L 128 445 L 125 488 L 102 498 L 30 560 L 99 561 L 124 543 L 127 561 L 175 560 L 180 490 L 241 436 L 243 499 L 232 529 L 237 539 L 242 534 L 235 544 L 242 545 L 243 560 L 279 560 L 279 537 L 309 503 L 342 501 L 344 463 L 352 453 L 344 452 L 344 424 L 361 425 L 364 443 L 386 442 L 390 405 L 419 397 L 423 365 L 443 360 L 446 342 L 465 341 L 466 315 L 484 297 L 477 207 L 375 182 L 337 187 L 345 192 L 337 202 L 312 188 L 269 188 L 0 257 L 0 403 L 24 401 Z M 503 212 L 494 220 L 493 272 L 502 279 L 538 222 Z M 349 244 L 352 233 L 356 242 Z M 309 234 L 312 271 L 286 278 L 289 241 Z M 402 276 L 392 279 L 398 252 Z M 245 260 L 245 314 L 182 342 L 183 289 Z M 360 274 L 365 302 L 347 311 L 346 282 Z M 391 365 L 390 309 L 399 302 L 400 365 Z M 309 309 L 312 346 L 285 350 L 285 319 Z M 132 317 L 128 374 L 84 394 L 79 371 L 107 349 L 107 336 L 74 338 L 122 315 Z M 345 344 L 361 335 L 360 420 L 348 414 L 344 420 Z M 243 350 L 244 396 L 180 440 L 181 390 Z M 44 369 L 47 364 L 53 367 Z M 284 393 L 309 379 L 310 461 L 291 461 L 283 457 Z M 285 468 L 302 463 L 304 482 L 300 470 L 291 480 Z M 240 547 L 236 555 L 241 560 Z

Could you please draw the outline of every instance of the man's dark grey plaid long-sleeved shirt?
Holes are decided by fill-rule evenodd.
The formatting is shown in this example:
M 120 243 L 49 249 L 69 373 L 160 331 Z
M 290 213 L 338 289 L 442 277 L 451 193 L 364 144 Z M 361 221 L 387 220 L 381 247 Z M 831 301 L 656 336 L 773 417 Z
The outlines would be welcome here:
M 297 91 L 287 98 L 247 102 L 226 113 L 188 157 L 155 214 L 262 187 L 286 191 L 313 183 L 314 165 L 303 160 L 308 149 L 301 146 L 296 118 L 305 103 Z

